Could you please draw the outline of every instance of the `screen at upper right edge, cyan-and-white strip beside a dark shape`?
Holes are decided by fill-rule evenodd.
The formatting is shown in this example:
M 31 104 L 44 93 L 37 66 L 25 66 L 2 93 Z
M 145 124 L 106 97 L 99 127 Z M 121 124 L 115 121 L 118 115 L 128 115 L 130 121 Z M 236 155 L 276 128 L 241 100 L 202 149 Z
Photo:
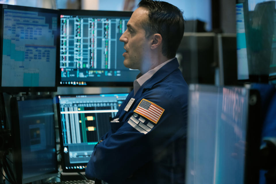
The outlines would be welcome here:
M 237 0 L 238 79 L 276 83 L 275 1 Z

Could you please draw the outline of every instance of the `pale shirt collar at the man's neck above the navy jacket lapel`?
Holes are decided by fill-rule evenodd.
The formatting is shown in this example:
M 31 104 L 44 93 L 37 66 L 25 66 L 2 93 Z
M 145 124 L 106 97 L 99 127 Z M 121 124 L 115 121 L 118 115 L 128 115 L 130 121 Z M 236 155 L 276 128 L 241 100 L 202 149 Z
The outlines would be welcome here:
M 175 57 L 173 58 L 175 59 Z M 136 92 L 138 91 L 138 89 L 148 80 L 150 79 L 160 68 L 162 68 L 162 66 L 164 66 L 165 64 L 167 64 L 168 62 L 172 61 L 173 59 L 167 60 L 164 63 L 156 66 L 154 69 L 148 71 L 147 73 L 143 74 L 142 76 L 141 73 L 139 73 L 137 75 L 137 78 L 134 82 L 133 82 L 133 89 L 134 89 L 134 95 L 136 94 Z

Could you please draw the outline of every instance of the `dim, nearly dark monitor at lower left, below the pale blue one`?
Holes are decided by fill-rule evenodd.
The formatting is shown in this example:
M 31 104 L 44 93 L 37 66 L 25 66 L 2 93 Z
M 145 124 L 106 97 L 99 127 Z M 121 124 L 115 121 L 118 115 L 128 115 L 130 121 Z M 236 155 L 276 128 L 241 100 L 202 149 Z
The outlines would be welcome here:
M 57 176 L 53 98 L 12 97 L 10 107 L 16 181 L 30 183 Z

